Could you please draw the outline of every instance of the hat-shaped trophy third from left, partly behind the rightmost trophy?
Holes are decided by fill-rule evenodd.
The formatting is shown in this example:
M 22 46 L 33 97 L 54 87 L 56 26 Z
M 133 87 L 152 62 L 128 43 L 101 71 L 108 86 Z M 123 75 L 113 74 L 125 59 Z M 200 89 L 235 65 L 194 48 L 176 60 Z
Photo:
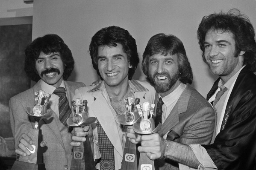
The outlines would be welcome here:
M 132 97 L 128 97 L 125 99 L 126 106 L 128 108 L 128 111 L 126 114 L 121 115 L 118 118 L 118 121 L 120 124 L 131 126 L 134 124 L 140 116 L 138 115 L 138 111 L 136 108 L 136 105 L 139 104 L 140 99 Z M 139 153 L 138 153 L 139 156 Z M 124 156 L 122 161 L 122 167 L 121 170 L 135 170 L 138 169 L 138 156 L 137 156 L 137 147 L 135 144 L 132 144 L 129 139 L 126 137 L 126 142 L 124 146 Z

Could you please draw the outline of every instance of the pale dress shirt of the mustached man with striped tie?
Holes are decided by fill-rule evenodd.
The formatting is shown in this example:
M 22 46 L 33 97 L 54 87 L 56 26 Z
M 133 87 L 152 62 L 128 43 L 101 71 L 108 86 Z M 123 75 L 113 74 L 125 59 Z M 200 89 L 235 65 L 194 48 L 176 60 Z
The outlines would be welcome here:
M 39 80 L 39 81 L 40 81 L 41 89 L 44 90 L 46 93 L 49 93 L 51 95 L 51 98 L 48 102 L 48 106 L 50 106 L 50 108 L 53 110 L 53 112 L 59 117 L 59 96 L 53 94 L 56 87 L 54 87 L 52 85 L 49 85 L 49 84 L 45 83 L 42 80 Z M 64 87 L 66 89 L 64 80 L 62 80 L 62 83 L 61 83 L 60 87 Z M 67 94 L 67 92 L 66 92 L 66 94 Z

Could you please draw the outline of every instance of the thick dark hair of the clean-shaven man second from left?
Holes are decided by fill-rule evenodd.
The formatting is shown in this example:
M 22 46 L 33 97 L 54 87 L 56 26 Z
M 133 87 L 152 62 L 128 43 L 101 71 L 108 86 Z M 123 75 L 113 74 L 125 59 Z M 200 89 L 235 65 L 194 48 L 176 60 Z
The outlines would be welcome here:
M 97 56 L 98 47 L 105 45 L 116 47 L 117 43 L 122 45 L 123 51 L 127 54 L 129 64 L 132 66 L 132 68 L 129 68 L 128 71 L 128 79 L 131 80 L 139 63 L 137 45 L 132 35 L 130 35 L 127 30 L 118 26 L 109 26 L 100 29 L 100 31 L 96 32 L 96 34 L 91 38 L 89 52 L 91 55 L 93 68 L 100 76 Z

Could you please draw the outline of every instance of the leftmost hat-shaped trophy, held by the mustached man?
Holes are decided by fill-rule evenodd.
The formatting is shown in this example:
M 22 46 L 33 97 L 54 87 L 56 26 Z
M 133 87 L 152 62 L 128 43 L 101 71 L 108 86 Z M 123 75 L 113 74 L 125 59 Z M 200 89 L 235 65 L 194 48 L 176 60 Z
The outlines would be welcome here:
M 26 108 L 26 113 L 35 119 L 35 127 L 30 128 L 28 135 L 32 139 L 33 151 L 27 156 L 20 156 L 18 161 L 12 166 L 12 170 L 45 170 L 43 163 L 43 153 L 40 143 L 42 141 L 42 131 L 39 129 L 39 121 L 44 118 L 49 118 L 52 111 L 46 112 L 46 104 L 48 103 L 51 95 L 46 94 L 43 90 L 35 92 L 35 106 L 33 109 Z

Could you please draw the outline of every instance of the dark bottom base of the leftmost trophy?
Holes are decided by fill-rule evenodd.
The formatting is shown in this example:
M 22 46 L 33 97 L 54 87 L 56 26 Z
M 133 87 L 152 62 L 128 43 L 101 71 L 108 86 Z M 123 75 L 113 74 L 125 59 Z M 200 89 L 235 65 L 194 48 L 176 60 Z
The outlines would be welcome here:
M 15 161 L 11 170 L 46 170 L 44 163 L 32 164 L 29 162 Z

